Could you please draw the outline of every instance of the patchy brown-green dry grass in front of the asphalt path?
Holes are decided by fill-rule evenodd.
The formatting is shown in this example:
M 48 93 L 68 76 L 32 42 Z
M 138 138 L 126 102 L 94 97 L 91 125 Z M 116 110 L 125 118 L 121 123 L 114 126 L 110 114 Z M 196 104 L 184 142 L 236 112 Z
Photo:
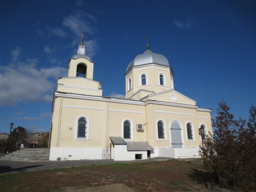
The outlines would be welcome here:
M 124 184 L 134 191 L 211 191 L 201 159 L 113 163 L 0 175 L 0 191 L 65 191 Z

